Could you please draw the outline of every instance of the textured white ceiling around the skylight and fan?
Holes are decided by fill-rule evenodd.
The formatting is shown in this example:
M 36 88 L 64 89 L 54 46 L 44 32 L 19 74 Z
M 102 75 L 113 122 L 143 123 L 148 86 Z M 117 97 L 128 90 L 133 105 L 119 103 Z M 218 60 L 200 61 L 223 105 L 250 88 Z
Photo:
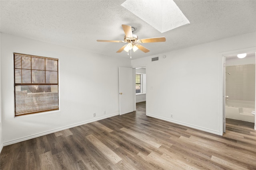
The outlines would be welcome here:
M 138 50 L 132 53 L 133 59 L 256 31 L 255 0 L 175 1 L 190 24 L 165 33 L 126 10 L 121 6 L 123 2 L 1 0 L 0 29 L 3 33 L 120 57 L 127 57 L 125 51 L 116 53 L 123 43 L 96 39 L 123 40 L 122 24 L 137 27 L 134 34 L 139 39 L 166 37 L 166 42 L 143 44 L 150 52 Z

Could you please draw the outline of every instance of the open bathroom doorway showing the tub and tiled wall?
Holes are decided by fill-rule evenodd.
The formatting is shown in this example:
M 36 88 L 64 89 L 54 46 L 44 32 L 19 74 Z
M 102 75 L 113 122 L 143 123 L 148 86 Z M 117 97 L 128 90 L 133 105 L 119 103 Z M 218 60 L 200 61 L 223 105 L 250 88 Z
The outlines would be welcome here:
M 238 54 L 245 57 L 238 58 Z M 226 118 L 254 123 L 255 116 L 255 49 L 236 51 L 223 55 L 223 132 L 226 132 Z M 225 62 L 226 61 L 226 62 Z M 225 64 L 226 63 L 226 64 Z

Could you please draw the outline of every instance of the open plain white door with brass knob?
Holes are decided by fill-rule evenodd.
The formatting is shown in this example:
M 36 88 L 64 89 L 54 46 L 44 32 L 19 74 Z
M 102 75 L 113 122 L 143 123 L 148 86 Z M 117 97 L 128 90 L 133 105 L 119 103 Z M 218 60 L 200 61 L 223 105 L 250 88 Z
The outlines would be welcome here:
M 135 85 L 134 85 L 135 86 Z M 119 67 L 119 108 L 120 115 L 133 111 L 134 100 L 133 69 Z

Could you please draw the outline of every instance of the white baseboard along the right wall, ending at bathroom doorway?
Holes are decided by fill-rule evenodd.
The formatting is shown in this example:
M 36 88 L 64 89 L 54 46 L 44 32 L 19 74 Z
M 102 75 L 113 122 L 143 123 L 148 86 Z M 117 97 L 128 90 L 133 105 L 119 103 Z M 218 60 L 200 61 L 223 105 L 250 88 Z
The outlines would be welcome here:
M 220 134 L 219 131 L 214 131 L 214 130 L 211 130 L 211 129 L 206 129 L 206 128 L 195 126 L 195 125 L 190 125 L 188 123 L 183 123 L 183 122 L 175 121 L 175 120 L 172 120 L 172 119 L 166 119 L 164 117 L 159 117 L 159 116 L 156 116 L 156 115 L 151 115 L 151 114 L 146 114 L 146 115 L 150 116 L 150 117 L 154 117 L 156 119 L 161 119 L 161 120 L 169 121 L 169 122 L 176 123 L 176 124 L 179 124 L 179 125 L 184 125 L 184 126 L 187 126 L 187 127 L 192 127 L 194 129 L 198 129 L 198 130 L 201 130 L 201 131 L 206 131 L 206 132 L 213 133 L 213 134 L 216 134 L 216 135 L 222 135 L 222 134 Z

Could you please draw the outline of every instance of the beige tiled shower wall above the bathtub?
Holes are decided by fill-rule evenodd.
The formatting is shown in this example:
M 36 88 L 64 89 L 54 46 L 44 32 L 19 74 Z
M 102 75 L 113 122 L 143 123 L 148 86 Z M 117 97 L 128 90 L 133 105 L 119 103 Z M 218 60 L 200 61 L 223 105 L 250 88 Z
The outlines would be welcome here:
M 226 72 L 228 99 L 255 101 L 255 64 L 226 66 Z

